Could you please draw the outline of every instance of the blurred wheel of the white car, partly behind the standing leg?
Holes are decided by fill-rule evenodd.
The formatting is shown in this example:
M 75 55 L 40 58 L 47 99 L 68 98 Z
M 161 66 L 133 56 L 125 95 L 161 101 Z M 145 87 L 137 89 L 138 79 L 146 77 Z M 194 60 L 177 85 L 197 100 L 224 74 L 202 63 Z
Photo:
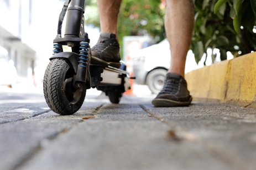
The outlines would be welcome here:
M 158 94 L 163 89 L 166 73 L 165 69 L 155 69 L 147 75 L 146 84 L 153 94 Z

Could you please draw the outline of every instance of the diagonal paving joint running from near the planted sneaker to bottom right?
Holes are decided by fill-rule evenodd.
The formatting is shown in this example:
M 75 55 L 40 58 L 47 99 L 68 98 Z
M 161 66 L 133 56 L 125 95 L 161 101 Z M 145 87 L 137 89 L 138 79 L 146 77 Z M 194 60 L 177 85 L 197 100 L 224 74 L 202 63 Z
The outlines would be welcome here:
M 204 141 L 198 136 L 190 133 L 188 130 L 179 127 L 178 125 L 171 123 L 168 119 L 158 116 L 158 114 L 155 114 L 151 112 L 148 108 L 146 108 L 143 105 L 139 105 L 145 112 L 149 113 L 151 116 L 159 119 L 161 122 L 167 124 L 171 129 L 170 131 L 173 131 L 174 139 L 186 139 L 192 142 L 198 142 L 201 144 L 206 150 L 210 151 L 212 155 L 216 156 L 220 161 L 222 161 L 224 164 L 227 164 L 230 167 L 233 167 L 234 169 L 254 169 L 253 166 L 251 166 L 249 163 L 242 160 L 241 157 L 237 156 L 237 154 L 232 152 L 227 152 L 223 147 L 217 146 L 216 144 L 213 144 L 209 141 Z

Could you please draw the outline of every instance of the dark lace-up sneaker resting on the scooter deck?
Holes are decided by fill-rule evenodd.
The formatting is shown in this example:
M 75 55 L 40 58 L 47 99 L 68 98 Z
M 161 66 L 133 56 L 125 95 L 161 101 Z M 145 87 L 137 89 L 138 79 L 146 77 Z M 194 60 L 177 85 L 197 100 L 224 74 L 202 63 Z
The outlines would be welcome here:
M 96 57 L 105 62 L 117 63 L 121 60 L 120 46 L 116 35 L 110 32 L 103 32 L 95 46 L 91 48 L 92 57 Z

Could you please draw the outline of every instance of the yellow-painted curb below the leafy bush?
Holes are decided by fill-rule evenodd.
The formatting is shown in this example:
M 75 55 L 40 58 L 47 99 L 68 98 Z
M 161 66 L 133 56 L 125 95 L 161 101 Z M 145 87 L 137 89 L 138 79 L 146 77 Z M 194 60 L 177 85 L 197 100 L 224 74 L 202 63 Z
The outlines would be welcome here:
M 256 52 L 185 75 L 193 101 L 256 107 Z

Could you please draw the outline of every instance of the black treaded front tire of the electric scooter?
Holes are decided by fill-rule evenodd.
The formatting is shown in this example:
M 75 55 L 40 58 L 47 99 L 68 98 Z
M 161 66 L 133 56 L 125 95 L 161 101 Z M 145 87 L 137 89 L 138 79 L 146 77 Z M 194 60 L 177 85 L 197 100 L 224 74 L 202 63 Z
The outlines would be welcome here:
M 61 115 L 75 113 L 82 106 L 86 95 L 86 85 L 71 90 L 74 68 L 65 59 L 55 58 L 50 61 L 44 74 L 44 97 L 48 106 Z

